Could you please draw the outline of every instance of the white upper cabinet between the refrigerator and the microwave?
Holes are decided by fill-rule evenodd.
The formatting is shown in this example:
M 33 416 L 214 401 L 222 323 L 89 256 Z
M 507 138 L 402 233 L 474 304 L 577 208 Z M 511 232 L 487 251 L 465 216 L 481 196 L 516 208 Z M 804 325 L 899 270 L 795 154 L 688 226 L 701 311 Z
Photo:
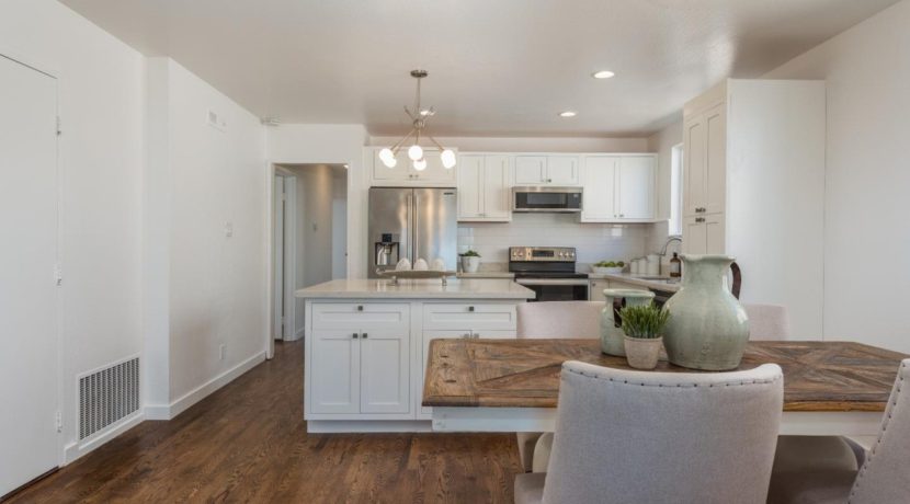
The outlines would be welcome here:
M 462 154 L 458 167 L 458 220 L 512 220 L 511 156 Z

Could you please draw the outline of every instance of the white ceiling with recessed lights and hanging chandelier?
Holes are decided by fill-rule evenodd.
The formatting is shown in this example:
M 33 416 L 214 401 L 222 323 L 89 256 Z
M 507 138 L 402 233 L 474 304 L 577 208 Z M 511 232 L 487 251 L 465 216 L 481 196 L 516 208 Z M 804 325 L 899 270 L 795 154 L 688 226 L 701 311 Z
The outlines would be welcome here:
M 403 134 L 638 136 L 896 0 L 61 0 L 262 117 Z M 594 80 L 610 69 L 617 77 Z M 564 110 L 578 111 L 571 119 Z

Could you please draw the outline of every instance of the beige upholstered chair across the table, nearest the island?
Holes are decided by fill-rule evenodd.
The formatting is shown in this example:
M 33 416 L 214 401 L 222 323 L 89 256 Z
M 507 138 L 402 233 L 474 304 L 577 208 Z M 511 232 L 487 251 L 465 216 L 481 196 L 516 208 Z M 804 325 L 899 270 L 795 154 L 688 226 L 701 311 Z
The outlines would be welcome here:
M 603 301 L 521 303 L 517 308 L 517 337 L 600 337 L 601 311 L 604 306 L 606 303 Z M 534 450 L 542 435 L 543 433 L 517 433 L 519 457 L 525 472 L 534 469 Z M 545 439 L 545 445 L 548 448 L 549 439 Z M 546 449 L 543 456 L 548 455 L 549 450 Z

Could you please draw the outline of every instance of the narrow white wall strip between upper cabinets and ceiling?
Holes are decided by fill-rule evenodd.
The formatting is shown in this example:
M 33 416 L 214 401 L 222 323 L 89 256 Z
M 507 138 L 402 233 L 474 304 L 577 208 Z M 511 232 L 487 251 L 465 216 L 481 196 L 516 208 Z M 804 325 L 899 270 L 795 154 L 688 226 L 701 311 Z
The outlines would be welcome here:
M 369 145 L 391 146 L 400 139 L 400 136 L 376 136 L 369 138 Z M 436 137 L 436 140 L 444 147 L 477 152 L 648 152 L 647 138 Z

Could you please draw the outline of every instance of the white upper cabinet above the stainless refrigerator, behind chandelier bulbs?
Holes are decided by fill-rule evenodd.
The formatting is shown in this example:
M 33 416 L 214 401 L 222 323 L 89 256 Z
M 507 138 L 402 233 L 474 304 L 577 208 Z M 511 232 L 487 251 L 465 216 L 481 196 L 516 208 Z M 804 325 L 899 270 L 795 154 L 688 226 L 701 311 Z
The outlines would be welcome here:
M 426 168 L 424 170 L 414 170 L 413 163 L 408 158 L 408 149 L 401 149 L 396 156 L 397 164 L 395 168 L 388 168 L 379 160 L 379 151 L 382 147 L 367 147 L 366 152 L 369 161 L 367 167 L 372 167 L 369 172 L 369 183 L 373 187 L 382 186 L 414 186 L 414 187 L 454 187 L 456 183 L 456 174 L 458 165 L 446 169 L 440 159 L 440 151 L 437 149 L 423 149 L 423 157 L 426 159 Z M 457 153 L 457 151 L 456 151 Z M 367 158 L 367 156 L 364 156 Z

